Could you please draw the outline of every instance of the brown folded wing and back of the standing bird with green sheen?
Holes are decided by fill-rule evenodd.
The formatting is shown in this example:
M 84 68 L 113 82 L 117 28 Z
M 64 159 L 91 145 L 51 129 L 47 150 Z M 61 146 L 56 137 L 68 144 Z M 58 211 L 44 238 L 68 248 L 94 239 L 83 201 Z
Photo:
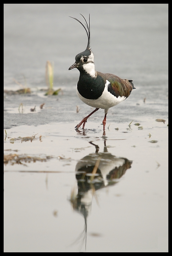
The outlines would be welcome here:
M 121 79 L 113 74 L 103 74 L 101 72 L 97 72 L 97 75 L 100 75 L 104 81 L 108 80 L 111 83 L 112 90 L 114 91 L 114 95 L 125 96 L 126 98 L 131 94 L 132 89 L 134 89 L 133 84 L 131 84 L 132 80 Z

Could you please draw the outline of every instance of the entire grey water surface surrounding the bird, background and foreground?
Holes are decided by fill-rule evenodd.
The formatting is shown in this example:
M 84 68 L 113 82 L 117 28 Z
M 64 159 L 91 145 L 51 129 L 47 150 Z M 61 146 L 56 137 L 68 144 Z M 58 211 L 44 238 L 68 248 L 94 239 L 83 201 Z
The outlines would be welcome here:
M 32 91 L 4 94 L 4 252 L 168 252 L 167 9 L 4 5 L 4 87 L 21 89 L 13 78 L 26 78 Z M 74 129 L 93 109 L 76 96 L 77 70 L 68 71 L 87 40 L 68 16 L 89 12 L 96 69 L 136 87 L 109 109 L 106 138 L 103 110 Z M 41 90 L 47 60 L 57 96 Z

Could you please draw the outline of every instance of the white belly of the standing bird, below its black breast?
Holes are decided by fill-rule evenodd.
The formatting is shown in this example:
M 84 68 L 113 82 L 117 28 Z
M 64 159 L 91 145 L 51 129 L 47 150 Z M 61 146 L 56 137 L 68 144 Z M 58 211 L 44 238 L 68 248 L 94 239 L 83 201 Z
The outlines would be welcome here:
M 98 99 L 85 99 L 83 96 L 80 95 L 79 91 L 77 90 L 77 86 L 76 86 L 76 93 L 78 97 L 81 99 L 81 101 L 83 101 L 88 106 L 91 106 L 93 108 L 109 109 L 109 108 L 112 108 L 113 106 L 116 106 L 121 101 L 124 101 L 126 97 L 119 96 L 117 98 L 111 93 L 109 93 L 108 84 L 109 84 L 109 81 L 107 80 L 103 94 Z

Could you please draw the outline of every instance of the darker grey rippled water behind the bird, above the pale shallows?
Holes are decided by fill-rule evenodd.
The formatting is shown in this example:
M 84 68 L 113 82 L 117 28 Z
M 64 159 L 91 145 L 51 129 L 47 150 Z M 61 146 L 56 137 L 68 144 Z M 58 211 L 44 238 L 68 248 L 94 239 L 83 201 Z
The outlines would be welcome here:
M 45 64 L 50 60 L 55 65 L 54 86 L 65 94 L 59 102 L 36 95 L 33 102 L 27 96 L 11 97 L 5 100 L 5 107 L 10 103 L 11 107 L 18 107 L 21 102 L 34 107 L 45 102 L 55 108 L 53 112 L 46 110 L 48 114 L 41 112 L 32 116 L 32 124 L 76 121 L 85 115 L 83 108 L 89 111 L 76 96 L 79 71 L 68 71 L 68 68 L 75 62 L 76 54 L 87 46 L 83 27 L 69 16 L 81 19 L 79 13 L 86 18 L 90 13 L 96 70 L 132 79 L 137 88 L 127 99 L 131 119 L 145 113 L 147 116 L 153 113 L 157 118 L 167 116 L 167 11 L 168 4 L 5 4 L 5 87 L 15 88 L 13 78 L 24 84 L 23 75 L 28 87 L 46 86 Z M 147 105 L 136 108 L 136 103 L 143 103 L 144 98 Z M 125 121 L 129 116 L 125 116 L 126 103 L 123 103 L 109 110 L 108 118 L 114 112 L 116 121 Z M 77 116 L 76 105 L 82 107 Z M 152 112 L 152 105 L 155 112 Z M 100 118 L 102 115 L 97 112 Z M 13 117 L 12 123 L 9 114 L 5 114 L 4 128 L 30 123 L 29 115 L 14 114 Z

